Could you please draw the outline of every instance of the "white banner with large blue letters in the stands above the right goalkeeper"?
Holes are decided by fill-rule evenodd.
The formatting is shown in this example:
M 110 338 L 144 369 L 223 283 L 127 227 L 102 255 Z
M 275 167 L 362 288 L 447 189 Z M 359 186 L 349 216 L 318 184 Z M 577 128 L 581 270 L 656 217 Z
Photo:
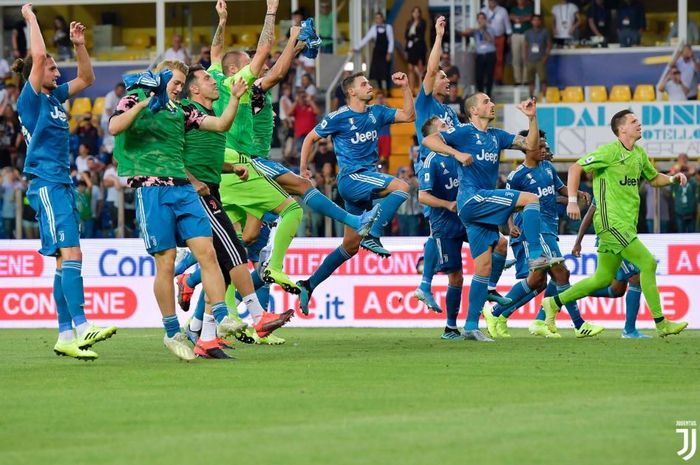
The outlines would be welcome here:
M 632 110 L 641 120 L 642 139 L 638 143 L 651 158 L 700 154 L 697 102 L 545 104 L 537 106 L 537 122 L 556 156 L 580 158 L 615 139 L 610 119 L 624 109 Z M 512 133 L 527 129 L 527 120 L 515 105 L 504 106 L 504 129 Z M 516 150 L 506 150 L 504 156 L 522 160 L 522 152 Z

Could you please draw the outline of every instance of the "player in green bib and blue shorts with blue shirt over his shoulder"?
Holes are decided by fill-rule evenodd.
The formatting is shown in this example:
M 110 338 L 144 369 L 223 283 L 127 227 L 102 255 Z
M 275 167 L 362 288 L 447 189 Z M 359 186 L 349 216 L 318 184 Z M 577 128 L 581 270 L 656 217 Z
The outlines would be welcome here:
M 185 133 L 194 129 L 228 130 L 236 113 L 236 101 L 228 102 L 220 118 L 202 113 L 194 106 L 182 107 L 176 102 L 187 71 L 180 61 L 161 62 L 155 72 L 160 73 L 157 77 L 161 83 L 167 82 L 163 94 L 147 94 L 160 85 L 146 89 L 127 85 L 127 95 L 119 101 L 109 121 L 109 131 L 117 136 L 115 157 L 119 160 L 119 175 L 128 176 L 129 185 L 136 188 L 141 235 L 146 250 L 155 259 L 153 291 L 163 316 L 163 342 L 177 357 L 192 360 L 195 353 L 187 343 L 187 336 L 180 332 L 175 314 L 173 271 L 178 245 L 186 243 L 197 258 L 205 291 L 212 302 L 211 315 L 205 317 L 202 329 L 207 334 L 204 340 L 225 338 L 247 325 L 228 316 L 224 302 L 226 287 L 216 260 L 209 218 L 187 179 L 184 164 Z M 146 73 L 137 83 L 157 84 L 153 77 L 152 73 Z M 165 106 L 158 111 L 151 109 L 152 99 Z M 211 350 L 207 352 L 212 355 Z

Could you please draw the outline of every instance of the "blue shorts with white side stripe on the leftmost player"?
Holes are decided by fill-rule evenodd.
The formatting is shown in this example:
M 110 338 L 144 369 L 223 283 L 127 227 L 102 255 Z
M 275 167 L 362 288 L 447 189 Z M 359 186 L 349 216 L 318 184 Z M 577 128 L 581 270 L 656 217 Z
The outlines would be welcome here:
M 80 215 L 73 186 L 34 178 L 27 200 L 39 223 L 40 254 L 54 257 L 59 249 L 80 247 Z

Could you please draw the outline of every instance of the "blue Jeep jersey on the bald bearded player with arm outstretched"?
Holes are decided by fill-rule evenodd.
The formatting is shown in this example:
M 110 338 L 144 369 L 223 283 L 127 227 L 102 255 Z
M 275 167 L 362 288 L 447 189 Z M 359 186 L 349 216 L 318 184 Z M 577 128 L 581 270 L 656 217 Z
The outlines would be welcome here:
M 440 134 L 447 145 L 474 157 L 471 165 L 460 164 L 460 200 L 467 200 L 479 189 L 496 188 L 501 150 L 513 145 L 515 135 L 497 128 L 480 131 L 471 123 L 458 124 Z

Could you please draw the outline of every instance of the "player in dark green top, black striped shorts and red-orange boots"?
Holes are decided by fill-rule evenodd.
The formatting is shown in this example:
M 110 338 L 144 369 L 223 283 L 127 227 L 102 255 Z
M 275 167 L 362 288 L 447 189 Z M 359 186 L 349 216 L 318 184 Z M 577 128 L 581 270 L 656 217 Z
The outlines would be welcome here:
M 183 107 L 193 106 L 200 113 L 216 116 L 213 103 L 219 98 L 216 81 L 201 66 L 190 68 L 185 81 L 185 94 L 189 97 L 182 101 Z M 231 102 L 236 105 L 246 91 L 243 81 L 238 81 L 231 88 Z M 236 105 L 237 106 L 237 105 Z M 226 135 L 210 131 L 192 129 L 185 134 L 185 169 L 193 187 L 200 195 L 200 202 L 209 217 L 214 234 L 214 248 L 221 266 L 226 285 L 233 285 L 241 292 L 242 301 L 253 319 L 253 328 L 260 337 L 265 337 L 275 329 L 282 327 L 294 314 L 288 310 L 280 315 L 265 312 L 255 294 L 255 288 L 248 271 L 248 257 L 244 245 L 238 239 L 231 220 L 221 206 L 219 183 L 221 172 L 233 171 L 241 180 L 248 178 L 243 167 L 224 165 Z M 201 304 L 190 320 L 187 334 L 195 339 L 195 353 L 203 357 L 218 357 L 224 354 L 215 350 L 219 347 L 216 338 L 205 339 L 202 332 L 202 318 L 205 315 L 205 296 L 200 295 Z M 194 337 L 192 337 L 192 336 Z M 210 337 L 210 334 L 206 335 Z

